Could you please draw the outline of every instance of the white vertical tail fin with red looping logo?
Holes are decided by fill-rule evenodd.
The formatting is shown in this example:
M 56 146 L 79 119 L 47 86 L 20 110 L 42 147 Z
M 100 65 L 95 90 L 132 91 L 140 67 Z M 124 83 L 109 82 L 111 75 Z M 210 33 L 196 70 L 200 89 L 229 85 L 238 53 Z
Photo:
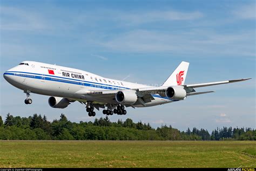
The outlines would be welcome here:
M 190 63 L 182 61 L 162 86 L 184 85 Z

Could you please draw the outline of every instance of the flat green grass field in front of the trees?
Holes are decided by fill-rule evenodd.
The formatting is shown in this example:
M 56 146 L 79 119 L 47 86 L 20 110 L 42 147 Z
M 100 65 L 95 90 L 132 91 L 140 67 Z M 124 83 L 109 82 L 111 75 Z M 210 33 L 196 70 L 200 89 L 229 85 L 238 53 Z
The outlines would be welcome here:
M 256 141 L 0 140 L 0 167 L 256 167 Z

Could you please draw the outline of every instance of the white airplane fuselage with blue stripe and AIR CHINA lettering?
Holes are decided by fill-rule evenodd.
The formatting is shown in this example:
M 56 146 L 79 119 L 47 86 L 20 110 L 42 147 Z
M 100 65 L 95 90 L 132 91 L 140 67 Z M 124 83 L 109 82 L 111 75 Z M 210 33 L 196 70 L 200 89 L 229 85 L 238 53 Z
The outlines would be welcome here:
M 9 69 L 4 73 L 5 80 L 12 84 L 12 86 L 24 91 L 30 91 L 46 96 L 65 97 L 80 102 L 96 101 L 112 103 L 104 98 L 96 98 L 93 96 L 82 98 L 78 96 L 76 92 L 81 90 L 86 92 L 94 90 L 122 90 L 150 87 L 145 86 L 144 84 L 107 79 L 74 68 L 34 61 L 23 61 L 22 63 L 28 63 L 28 65 L 18 65 Z M 152 96 L 154 97 L 154 100 L 146 103 L 145 106 L 173 102 L 172 100 L 159 95 Z M 136 107 L 143 107 L 143 105 L 136 105 Z

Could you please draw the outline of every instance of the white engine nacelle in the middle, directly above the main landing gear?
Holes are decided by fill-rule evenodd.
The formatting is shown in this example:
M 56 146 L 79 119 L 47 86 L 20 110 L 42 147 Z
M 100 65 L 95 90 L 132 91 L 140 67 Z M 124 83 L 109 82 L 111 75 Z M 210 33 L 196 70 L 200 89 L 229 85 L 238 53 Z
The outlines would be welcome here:
M 138 97 L 136 90 L 120 90 L 116 94 L 116 101 L 123 104 L 134 104 Z

